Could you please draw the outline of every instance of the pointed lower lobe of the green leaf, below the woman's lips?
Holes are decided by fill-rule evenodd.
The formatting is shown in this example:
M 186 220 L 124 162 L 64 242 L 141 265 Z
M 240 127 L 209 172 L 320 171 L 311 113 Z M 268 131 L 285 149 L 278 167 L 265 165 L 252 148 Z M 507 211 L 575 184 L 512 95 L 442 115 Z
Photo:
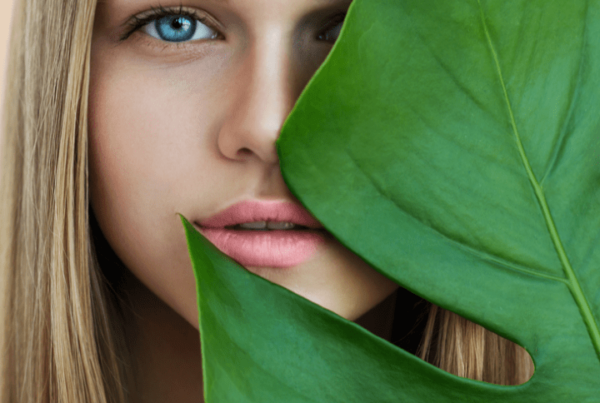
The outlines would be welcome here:
M 250 273 L 182 222 L 196 276 L 209 403 L 482 402 L 528 388 L 458 378 L 427 364 Z M 464 400 L 465 393 L 472 399 Z

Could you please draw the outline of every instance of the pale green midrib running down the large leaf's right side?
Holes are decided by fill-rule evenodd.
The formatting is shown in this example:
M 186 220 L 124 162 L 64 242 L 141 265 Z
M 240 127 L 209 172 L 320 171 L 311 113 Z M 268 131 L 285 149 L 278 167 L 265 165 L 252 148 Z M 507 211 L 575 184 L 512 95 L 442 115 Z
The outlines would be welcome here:
M 487 21 L 485 18 L 485 13 L 483 11 L 483 6 L 481 5 L 481 0 L 477 0 L 477 4 L 479 5 L 479 11 L 481 15 L 481 23 L 483 25 L 483 29 L 485 32 L 485 36 L 487 39 L 488 46 L 490 51 L 492 52 L 492 56 L 494 58 L 494 63 L 496 67 L 496 72 L 498 73 L 498 78 L 500 80 L 500 84 L 502 86 L 502 91 L 504 94 L 504 101 L 506 102 L 506 106 L 508 109 L 508 113 L 510 115 L 510 123 L 513 130 L 513 134 L 515 137 L 515 141 L 517 143 L 517 148 L 519 150 L 519 155 L 521 157 L 521 162 L 525 167 L 525 171 L 527 172 L 527 177 L 529 178 L 529 182 L 533 187 L 535 192 L 538 205 L 542 210 L 542 214 L 544 216 L 544 220 L 546 222 L 546 226 L 548 231 L 550 232 L 550 238 L 552 239 L 552 243 L 554 244 L 554 248 L 558 254 L 558 258 L 562 264 L 563 271 L 567 277 L 568 283 L 567 287 L 571 291 L 575 303 L 579 307 L 581 315 L 583 317 L 583 321 L 586 324 L 588 329 L 590 338 L 592 340 L 592 344 L 594 345 L 594 349 L 596 350 L 596 355 L 600 359 L 600 328 L 598 327 L 598 323 L 596 323 L 596 319 L 592 313 L 592 309 L 590 304 L 581 288 L 581 284 L 577 278 L 573 267 L 571 266 L 571 262 L 566 254 L 565 248 L 562 244 L 562 240 L 558 234 L 558 230 L 556 228 L 556 224 L 554 223 L 554 218 L 550 213 L 550 208 L 548 207 L 548 202 L 546 200 L 546 195 L 544 194 L 544 190 L 540 186 L 537 178 L 535 177 L 535 173 L 531 168 L 531 164 L 529 163 L 529 159 L 527 158 L 527 154 L 525 153 L 525 148 L 523 147 L 523 143 L 521 141 L 521 135 L 519 134 L 519 130 L 517 128 L 517 123 L 515 121 L 515 116 L 513 113 L 513 108 L 510 103 L 510 99 L 508 97 L 508 91 L 506 89 L 506 84 L 504 81 L 504 75 L 502 73 L 502 68 L 500 67 L 500 62 L 498 60 L 498 53 L 496 52 L 496 48 L 494 43 L 492 42 L 492 38 L 490 37 Z

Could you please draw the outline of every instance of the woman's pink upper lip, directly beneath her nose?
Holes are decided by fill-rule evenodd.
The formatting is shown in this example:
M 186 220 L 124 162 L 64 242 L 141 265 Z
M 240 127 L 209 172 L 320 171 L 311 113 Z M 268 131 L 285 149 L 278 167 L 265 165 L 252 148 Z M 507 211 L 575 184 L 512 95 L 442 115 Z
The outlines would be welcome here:
M 224 228 L 257 221 L 290 222 L 313 229 L 323 228 L 304 207 L 293 202 L 274 200 L 244 200 L 198 221 L 198 224 L 204 228 Z

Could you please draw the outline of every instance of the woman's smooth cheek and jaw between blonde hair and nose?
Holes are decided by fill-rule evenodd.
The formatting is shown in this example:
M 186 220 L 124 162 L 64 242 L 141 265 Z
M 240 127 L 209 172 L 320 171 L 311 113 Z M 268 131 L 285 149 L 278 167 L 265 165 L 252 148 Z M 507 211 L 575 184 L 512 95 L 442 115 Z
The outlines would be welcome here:
M 194 189 L 218 180 L 209 147 L 218 105 L 202 99 L 203 83 L 183 85 L 185 72 L 173 80 L 176 73 L 156 69 L 99 70 L 90 92 L 92 208 L 123 263 L 197 326 L 195 282 L 177 213 L 198 200 Z

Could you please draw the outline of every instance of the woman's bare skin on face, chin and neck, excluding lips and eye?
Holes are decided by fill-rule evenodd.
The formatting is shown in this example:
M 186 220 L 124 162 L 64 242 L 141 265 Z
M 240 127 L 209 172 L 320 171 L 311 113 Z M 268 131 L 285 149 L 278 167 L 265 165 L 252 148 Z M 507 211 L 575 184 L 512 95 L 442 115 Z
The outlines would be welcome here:
M 349 4 L 165 0 L 165 9 L 206 18 L 198 23 L 204 37 L 174 43 L 153 36 L 148 25 L 135 32 L 124 26 L 158 3 L 100 2 L 90 197 L 102 232 L 135 276 L 135 401 L 201 396 L 195 281 L 178 214 L 201 220 L 249 199 L 299 204 L 282 179 L 275 141 L 331 50 Z M 364 323 L 372 322 L 364 320 L 368 312 L 390 312 L 382 301 L 397 289 L 333 237 L 289 270 L 247 269 Z M 369 327 L 385 337 L 388 325 Z

